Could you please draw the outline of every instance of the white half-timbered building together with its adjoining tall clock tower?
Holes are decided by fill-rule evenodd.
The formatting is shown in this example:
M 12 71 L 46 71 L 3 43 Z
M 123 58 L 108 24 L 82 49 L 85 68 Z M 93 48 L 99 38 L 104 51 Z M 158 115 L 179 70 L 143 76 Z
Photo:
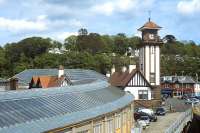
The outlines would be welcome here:
M 131 92 L 135 100 L 160 99 L 160 29 L 150 19 L 138 29 L 142 32 L 138 68 L 123 68 L 120 72 L 111 72 L 111 84 Z

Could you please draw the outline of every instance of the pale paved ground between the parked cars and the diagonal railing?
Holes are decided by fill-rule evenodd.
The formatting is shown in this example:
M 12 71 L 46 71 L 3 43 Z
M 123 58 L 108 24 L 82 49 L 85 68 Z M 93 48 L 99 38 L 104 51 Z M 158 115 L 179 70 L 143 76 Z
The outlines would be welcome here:
M 147 127 L 142 133 L 164 133 L 177 117 L 180 116 L 180 112 L 167 113 L 165 116 L 158 116 L 157 122 L 151 122 L 150 126 Z

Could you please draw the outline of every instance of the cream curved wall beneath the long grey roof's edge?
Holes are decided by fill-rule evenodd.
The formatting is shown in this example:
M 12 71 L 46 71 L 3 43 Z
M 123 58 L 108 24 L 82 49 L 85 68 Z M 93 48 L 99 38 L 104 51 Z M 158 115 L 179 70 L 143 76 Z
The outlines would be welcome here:
M 113 133 L 130 133 L 133 127 L 133 103 L 115 112 L 46 133 L 111 133 L 109 125 Z

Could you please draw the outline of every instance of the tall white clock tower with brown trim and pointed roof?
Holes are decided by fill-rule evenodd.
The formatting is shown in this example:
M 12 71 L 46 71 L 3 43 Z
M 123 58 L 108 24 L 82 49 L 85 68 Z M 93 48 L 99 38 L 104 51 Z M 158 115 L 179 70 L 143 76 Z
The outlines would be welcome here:
M 138 30 L 142 32 L 142 44 L 139 47 L 139 68 L 152 86 L 160 86 L 160 46 L 158 36 L 160 26 L 149 21 Z

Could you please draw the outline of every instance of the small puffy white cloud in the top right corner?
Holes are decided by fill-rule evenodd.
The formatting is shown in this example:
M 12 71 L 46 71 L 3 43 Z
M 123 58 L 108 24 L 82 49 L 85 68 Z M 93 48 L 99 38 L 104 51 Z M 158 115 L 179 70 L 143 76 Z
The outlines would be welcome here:
M 182 14 L 200 12 L 200 0 L 182 0 L 177 4 L 177 9 Z

